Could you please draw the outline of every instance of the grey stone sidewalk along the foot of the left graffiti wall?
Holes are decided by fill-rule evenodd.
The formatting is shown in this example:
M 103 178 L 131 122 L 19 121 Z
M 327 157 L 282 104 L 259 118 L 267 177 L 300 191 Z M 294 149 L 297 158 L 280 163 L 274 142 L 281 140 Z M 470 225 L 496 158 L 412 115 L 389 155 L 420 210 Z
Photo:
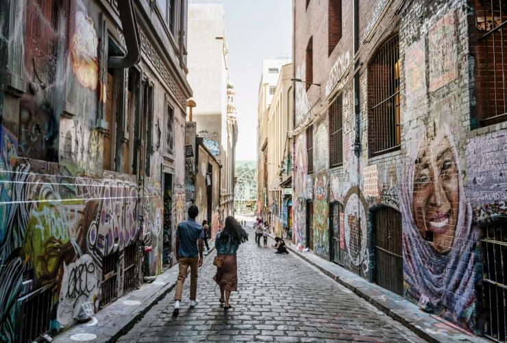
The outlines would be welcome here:
M 203 262 L 206 262 L 206 259 L 208 259 L 208 256 L 210 256 L 213 250 L 214 242 L 206 255 L 203 255 Z M 153 283 L 143 283 L 138 289 L 114 300 L 113 303 L 95 313 L 94 318 L 97 319 L 97 322 L 101 323 L 100 326 L 90 326 L 89 322 L 75 324 L 69 327 L 69 329 L 55 335 L 53 342 L 79 342 L 79 340 L 73 340 L 71 336 L 82 333 L 93 333 L 97 335 L 97 338 L 90 342 L 116 342 L 122 335 L 125 335 L 125 333 L 132 329 L 136 322 L 143 318 L 153 306 L 157 305 L 160 300 L 174 289 L 177 281 L 177 272 L 178 268 L 176 264 L 169 268 L 169 270 L 158 275 L 156 281 L 164 277 L 164 279 L 166 279 L 164 285 L 156 289 L 148 298 L 140 299 L 142 300 L 140 301 L 140 305 L 133 308 L 132 311 L 121 311 L 121 303 L 129 300 L 129 298 L 135 299 L 138 294 L 147 294 L 147 292 L 150 291 L 150 286 L 157 285 L 155 283 L 156 281 L 153 281 Z M 125 306 L 123 305 L 123 307 Z

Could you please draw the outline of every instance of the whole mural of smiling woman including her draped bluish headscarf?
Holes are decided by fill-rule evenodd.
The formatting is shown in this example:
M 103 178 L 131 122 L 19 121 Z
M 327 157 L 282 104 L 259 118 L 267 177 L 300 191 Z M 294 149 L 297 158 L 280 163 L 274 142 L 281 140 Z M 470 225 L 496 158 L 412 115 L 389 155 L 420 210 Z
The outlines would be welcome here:
M 414 301 L 428 297 L 435 311 L 475 327 L 475 283 L 480 276 L 471 206 L 462 183 L 458 151 L 441 126 L 419 145 L 404 169 L 404 282 Z

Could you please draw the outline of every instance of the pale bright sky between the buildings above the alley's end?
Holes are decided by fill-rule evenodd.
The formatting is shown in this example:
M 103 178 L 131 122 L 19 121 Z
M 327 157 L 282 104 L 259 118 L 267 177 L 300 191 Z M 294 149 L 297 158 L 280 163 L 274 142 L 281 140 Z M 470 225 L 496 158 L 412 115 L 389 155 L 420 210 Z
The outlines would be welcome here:
M 236 161 L 257 158 L 257 102 L 262 60 L 291 58 L 290 0 L 223 0 L 230 80 L 238 115 Z

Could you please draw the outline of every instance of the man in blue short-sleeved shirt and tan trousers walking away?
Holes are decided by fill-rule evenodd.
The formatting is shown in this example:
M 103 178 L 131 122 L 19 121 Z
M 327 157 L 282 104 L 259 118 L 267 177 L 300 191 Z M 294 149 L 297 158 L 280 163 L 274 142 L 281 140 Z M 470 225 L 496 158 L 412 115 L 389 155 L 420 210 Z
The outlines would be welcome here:
M 203 238 L 204 230 L 195 222 L 199 209 L 195 205 L 188 208 L 188 220 L 178 224 L 176 229 L 176 260 L 179 264 L 179 272 L 174 296 L 173 316 L 180 312 L 183 283 L 185 282 L 188 268 L 190 268 L 190 307 L 197 306 L 197 274 L 198 268 L 203 262 Z

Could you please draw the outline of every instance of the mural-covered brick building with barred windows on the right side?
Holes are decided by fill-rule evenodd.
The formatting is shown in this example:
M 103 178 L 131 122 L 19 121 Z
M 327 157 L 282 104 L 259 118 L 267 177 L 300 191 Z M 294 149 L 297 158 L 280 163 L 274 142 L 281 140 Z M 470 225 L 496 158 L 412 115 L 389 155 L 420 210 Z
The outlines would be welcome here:
M 295 0 L 293 16 L 295 243 L 505 340 L 506 3 Z

